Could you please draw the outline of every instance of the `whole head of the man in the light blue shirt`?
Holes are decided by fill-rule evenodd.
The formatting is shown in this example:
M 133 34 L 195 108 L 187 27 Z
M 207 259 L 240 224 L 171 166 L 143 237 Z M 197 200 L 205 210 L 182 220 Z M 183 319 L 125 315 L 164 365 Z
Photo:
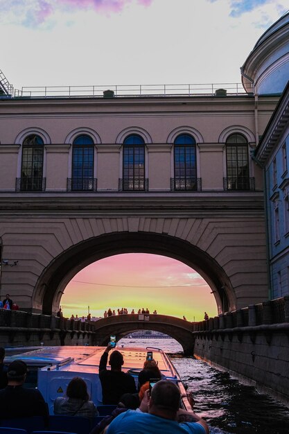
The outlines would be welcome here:
M 158 381 L 150 394 L 148 413 L 161 415 L 166 419 L 175 419 L 177 410 L 179 410 L 180 399 L 181 392 L 173 381 Z

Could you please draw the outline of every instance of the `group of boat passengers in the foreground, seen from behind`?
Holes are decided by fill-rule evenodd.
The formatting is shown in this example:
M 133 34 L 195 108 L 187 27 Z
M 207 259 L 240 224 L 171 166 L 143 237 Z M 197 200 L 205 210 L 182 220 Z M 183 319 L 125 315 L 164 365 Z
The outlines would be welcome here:
M 99 379 L 103 404 L 115 408 L 111 415 L 103 417 L 92 428 L 90 434 L 209 434 L 207 423 L 193 410 L 191 394 L 188 394 L 191 410 L 180 408 L 178 386 L 161 374 L 154 359 L 147 358 L 136 382 L 131 374 L 122 371 L 124 361 L 120 351 L 112 351 L 109 358 L 111 349 L 108 345 L 100 358 Z M 6 367 L 3 365 L 4 357 L 5 349 L 0 348 L 0 419 L 37 416 L 42 417 L 48 426 L 48 407 L 40 390 L 24 388 L 28 372 L 26 363 L 15 360 Z M 107 370 L 107 362 L 110 370 Z M 151 379 L 156 382 L 152 388 Z M 84 379 L 71 379 L 66 394 L 54 401 L 54 414 L 91 420 L 98 415 Z

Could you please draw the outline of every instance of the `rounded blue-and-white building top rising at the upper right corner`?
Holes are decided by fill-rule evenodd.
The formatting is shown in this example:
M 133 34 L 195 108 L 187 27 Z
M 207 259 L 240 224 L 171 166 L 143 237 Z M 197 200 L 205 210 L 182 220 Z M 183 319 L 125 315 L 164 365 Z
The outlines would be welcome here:
M 289 80 L 289 11 L 256 42 L 241 67 L 246 92 L 281 94 Z

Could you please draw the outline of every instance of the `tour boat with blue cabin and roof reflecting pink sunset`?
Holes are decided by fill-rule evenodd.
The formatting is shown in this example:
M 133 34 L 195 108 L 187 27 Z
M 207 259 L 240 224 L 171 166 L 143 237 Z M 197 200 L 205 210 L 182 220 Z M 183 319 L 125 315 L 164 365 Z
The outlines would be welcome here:
M 186 388 L 167 354 L 159 348 L 116 347 L 123 354 L 123 372 L 129 372 L 137 383 L 139 372 L 143 369 L 147 351 L 152 351 L 152 358 L 158 363 L 159 370 L 166 379 L 179 386 L 182 394 L 182 407 L 190 409 L 186 397 Z M 37 387 L 53 415 L 53 403 L 67 390 L 69 381 L 80 376 L 87 383 L 87 390 L 96 406 L 102 404 L 102 391 L 98 368 L 100 357 L 105 347 L 67 346 L 67 347 L 21 347 L 6 349 L 5 363 L 20 359 L 28 365 L 26 386 Z

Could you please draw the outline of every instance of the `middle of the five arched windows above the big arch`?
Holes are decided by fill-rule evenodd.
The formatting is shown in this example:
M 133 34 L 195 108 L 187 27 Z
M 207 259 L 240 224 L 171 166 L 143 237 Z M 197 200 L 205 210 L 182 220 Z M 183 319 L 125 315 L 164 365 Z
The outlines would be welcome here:
M 137 134 L 131 134 L 123 142 L 122 189 L 147 190 L 145 180 L 145 143 Z

